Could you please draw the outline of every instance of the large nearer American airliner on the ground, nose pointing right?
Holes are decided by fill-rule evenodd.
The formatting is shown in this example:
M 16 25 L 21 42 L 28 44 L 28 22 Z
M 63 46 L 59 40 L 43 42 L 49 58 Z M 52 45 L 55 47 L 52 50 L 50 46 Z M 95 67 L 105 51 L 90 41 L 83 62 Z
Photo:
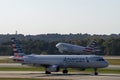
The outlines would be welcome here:
M 14 56 L 12 59 L 23 65 L 45 67 L 45 74 L 58 72 L 63 68 L 63 74 L 67 74 L 67 68 L 93 68 L 94 75 L 98 75 L 97 69 L 107 67 L 108 62 L 97 55 L 25 55 L 15 38 L 11 38 Z

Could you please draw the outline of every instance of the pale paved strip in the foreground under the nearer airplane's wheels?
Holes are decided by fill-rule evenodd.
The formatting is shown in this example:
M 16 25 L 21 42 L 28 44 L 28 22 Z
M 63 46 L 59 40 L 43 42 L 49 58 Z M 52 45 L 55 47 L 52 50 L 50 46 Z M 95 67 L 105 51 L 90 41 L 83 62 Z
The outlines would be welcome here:
M 99 74 L 70 72 L 69 74 L 44 74 L 40 71 L 0 71 L 0 78 L 40 78 L 40 79 L 66 79 L 66 80 L 120 80 L 120 74 Z

